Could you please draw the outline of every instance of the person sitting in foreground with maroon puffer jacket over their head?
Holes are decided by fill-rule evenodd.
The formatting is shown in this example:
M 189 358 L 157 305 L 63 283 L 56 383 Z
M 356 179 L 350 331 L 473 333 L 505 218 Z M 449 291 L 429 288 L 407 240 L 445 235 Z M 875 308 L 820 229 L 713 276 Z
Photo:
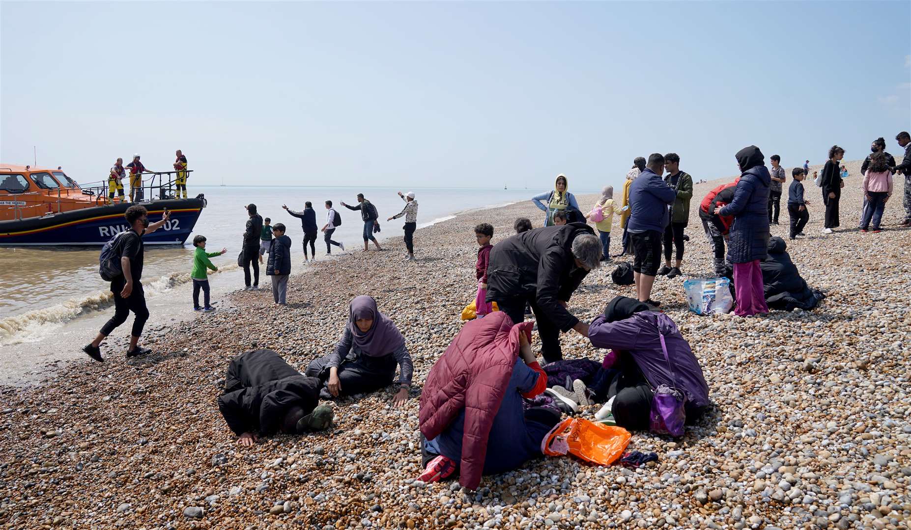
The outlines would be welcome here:
M 482 474 L 505 473 L 541 455 L 541 440 L 560 413 L 522 404 L 548 385 L 528 342 L 531 328 L 497 311 L 455 335 L 421 393 L 419 480 L 435 482 L 458 467 L 459 484 L 475 490 Z

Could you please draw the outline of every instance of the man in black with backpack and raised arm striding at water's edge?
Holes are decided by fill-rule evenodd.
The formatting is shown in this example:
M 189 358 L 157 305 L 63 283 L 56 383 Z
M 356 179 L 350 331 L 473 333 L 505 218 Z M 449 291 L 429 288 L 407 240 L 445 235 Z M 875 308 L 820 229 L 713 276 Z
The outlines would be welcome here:
M 124 217 L 127 219 L 129 230 L 118 235 L 117 240 L 114 242 L 114 250 L 120 257 L 120 268 L 123 270 L 122 275 L 111 280 L 111 293 L 114 294 L 114 316 L 107 321 L 107 324 L 101 327 L 101 331 L 98 332 L 95 340 L 82 348 L 82 351 L 99 363 L 104 362 L 99 347 L 101 341 L 105 340 L 105 337 L 110 335 L 118 325 L 127 321 L 130 311 L 136 317 L 133 319 L 133 331 L 129 337 L 127 356 L 134 357 L 151 353 L 148 348 L 138 345 L 139 335 L 142 335 L 142 328 L 148 320 L 146 294 L 142 291 L 142 282 L 140 281 L 143 261 L 142 236 L 151 234 L 164 225 L 170 219 L 170 212 L 165 210 L 159 222 L 149 225 L 146 208 L 132 205 L 127 208 Z

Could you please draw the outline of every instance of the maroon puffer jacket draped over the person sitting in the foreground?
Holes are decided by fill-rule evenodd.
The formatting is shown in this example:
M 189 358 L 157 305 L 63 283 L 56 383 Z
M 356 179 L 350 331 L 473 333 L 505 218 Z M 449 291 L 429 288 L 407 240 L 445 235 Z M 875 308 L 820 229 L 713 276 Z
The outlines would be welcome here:
M 468 322 L 436 361 L 421 393 L 421 433 L 432 440 L 464 408 L 459 484 L 481 483 L 487 436 L 506 394 L 519 352 L 519 334 L 531 335 L 531 322 L 513 325 L 501 312 Z

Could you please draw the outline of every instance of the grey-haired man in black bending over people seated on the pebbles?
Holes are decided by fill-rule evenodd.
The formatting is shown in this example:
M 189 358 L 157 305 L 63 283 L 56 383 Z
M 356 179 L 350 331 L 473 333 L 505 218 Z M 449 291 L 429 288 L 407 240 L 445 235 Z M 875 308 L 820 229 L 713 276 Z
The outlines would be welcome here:
M 531 306 L 545 363 L 563 358 L 560 332 L 589 336 L 589 325 L 569 313 L 569 297 L 599 267 L 601 242 L 584 223 L 544 226 L 494 245 L 487 265 L 487 302 L 516 324 Z

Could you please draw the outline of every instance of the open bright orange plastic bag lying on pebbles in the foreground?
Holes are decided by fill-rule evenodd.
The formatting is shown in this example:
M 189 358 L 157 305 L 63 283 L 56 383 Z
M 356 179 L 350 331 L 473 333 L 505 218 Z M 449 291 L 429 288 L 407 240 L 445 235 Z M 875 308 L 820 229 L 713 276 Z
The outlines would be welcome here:
M 586 462 L 611 465 L 630 444 L 630 431 L 623 427 L 567 418 L 541 441 L 541 453 L 548 456 L 576 455 Z

